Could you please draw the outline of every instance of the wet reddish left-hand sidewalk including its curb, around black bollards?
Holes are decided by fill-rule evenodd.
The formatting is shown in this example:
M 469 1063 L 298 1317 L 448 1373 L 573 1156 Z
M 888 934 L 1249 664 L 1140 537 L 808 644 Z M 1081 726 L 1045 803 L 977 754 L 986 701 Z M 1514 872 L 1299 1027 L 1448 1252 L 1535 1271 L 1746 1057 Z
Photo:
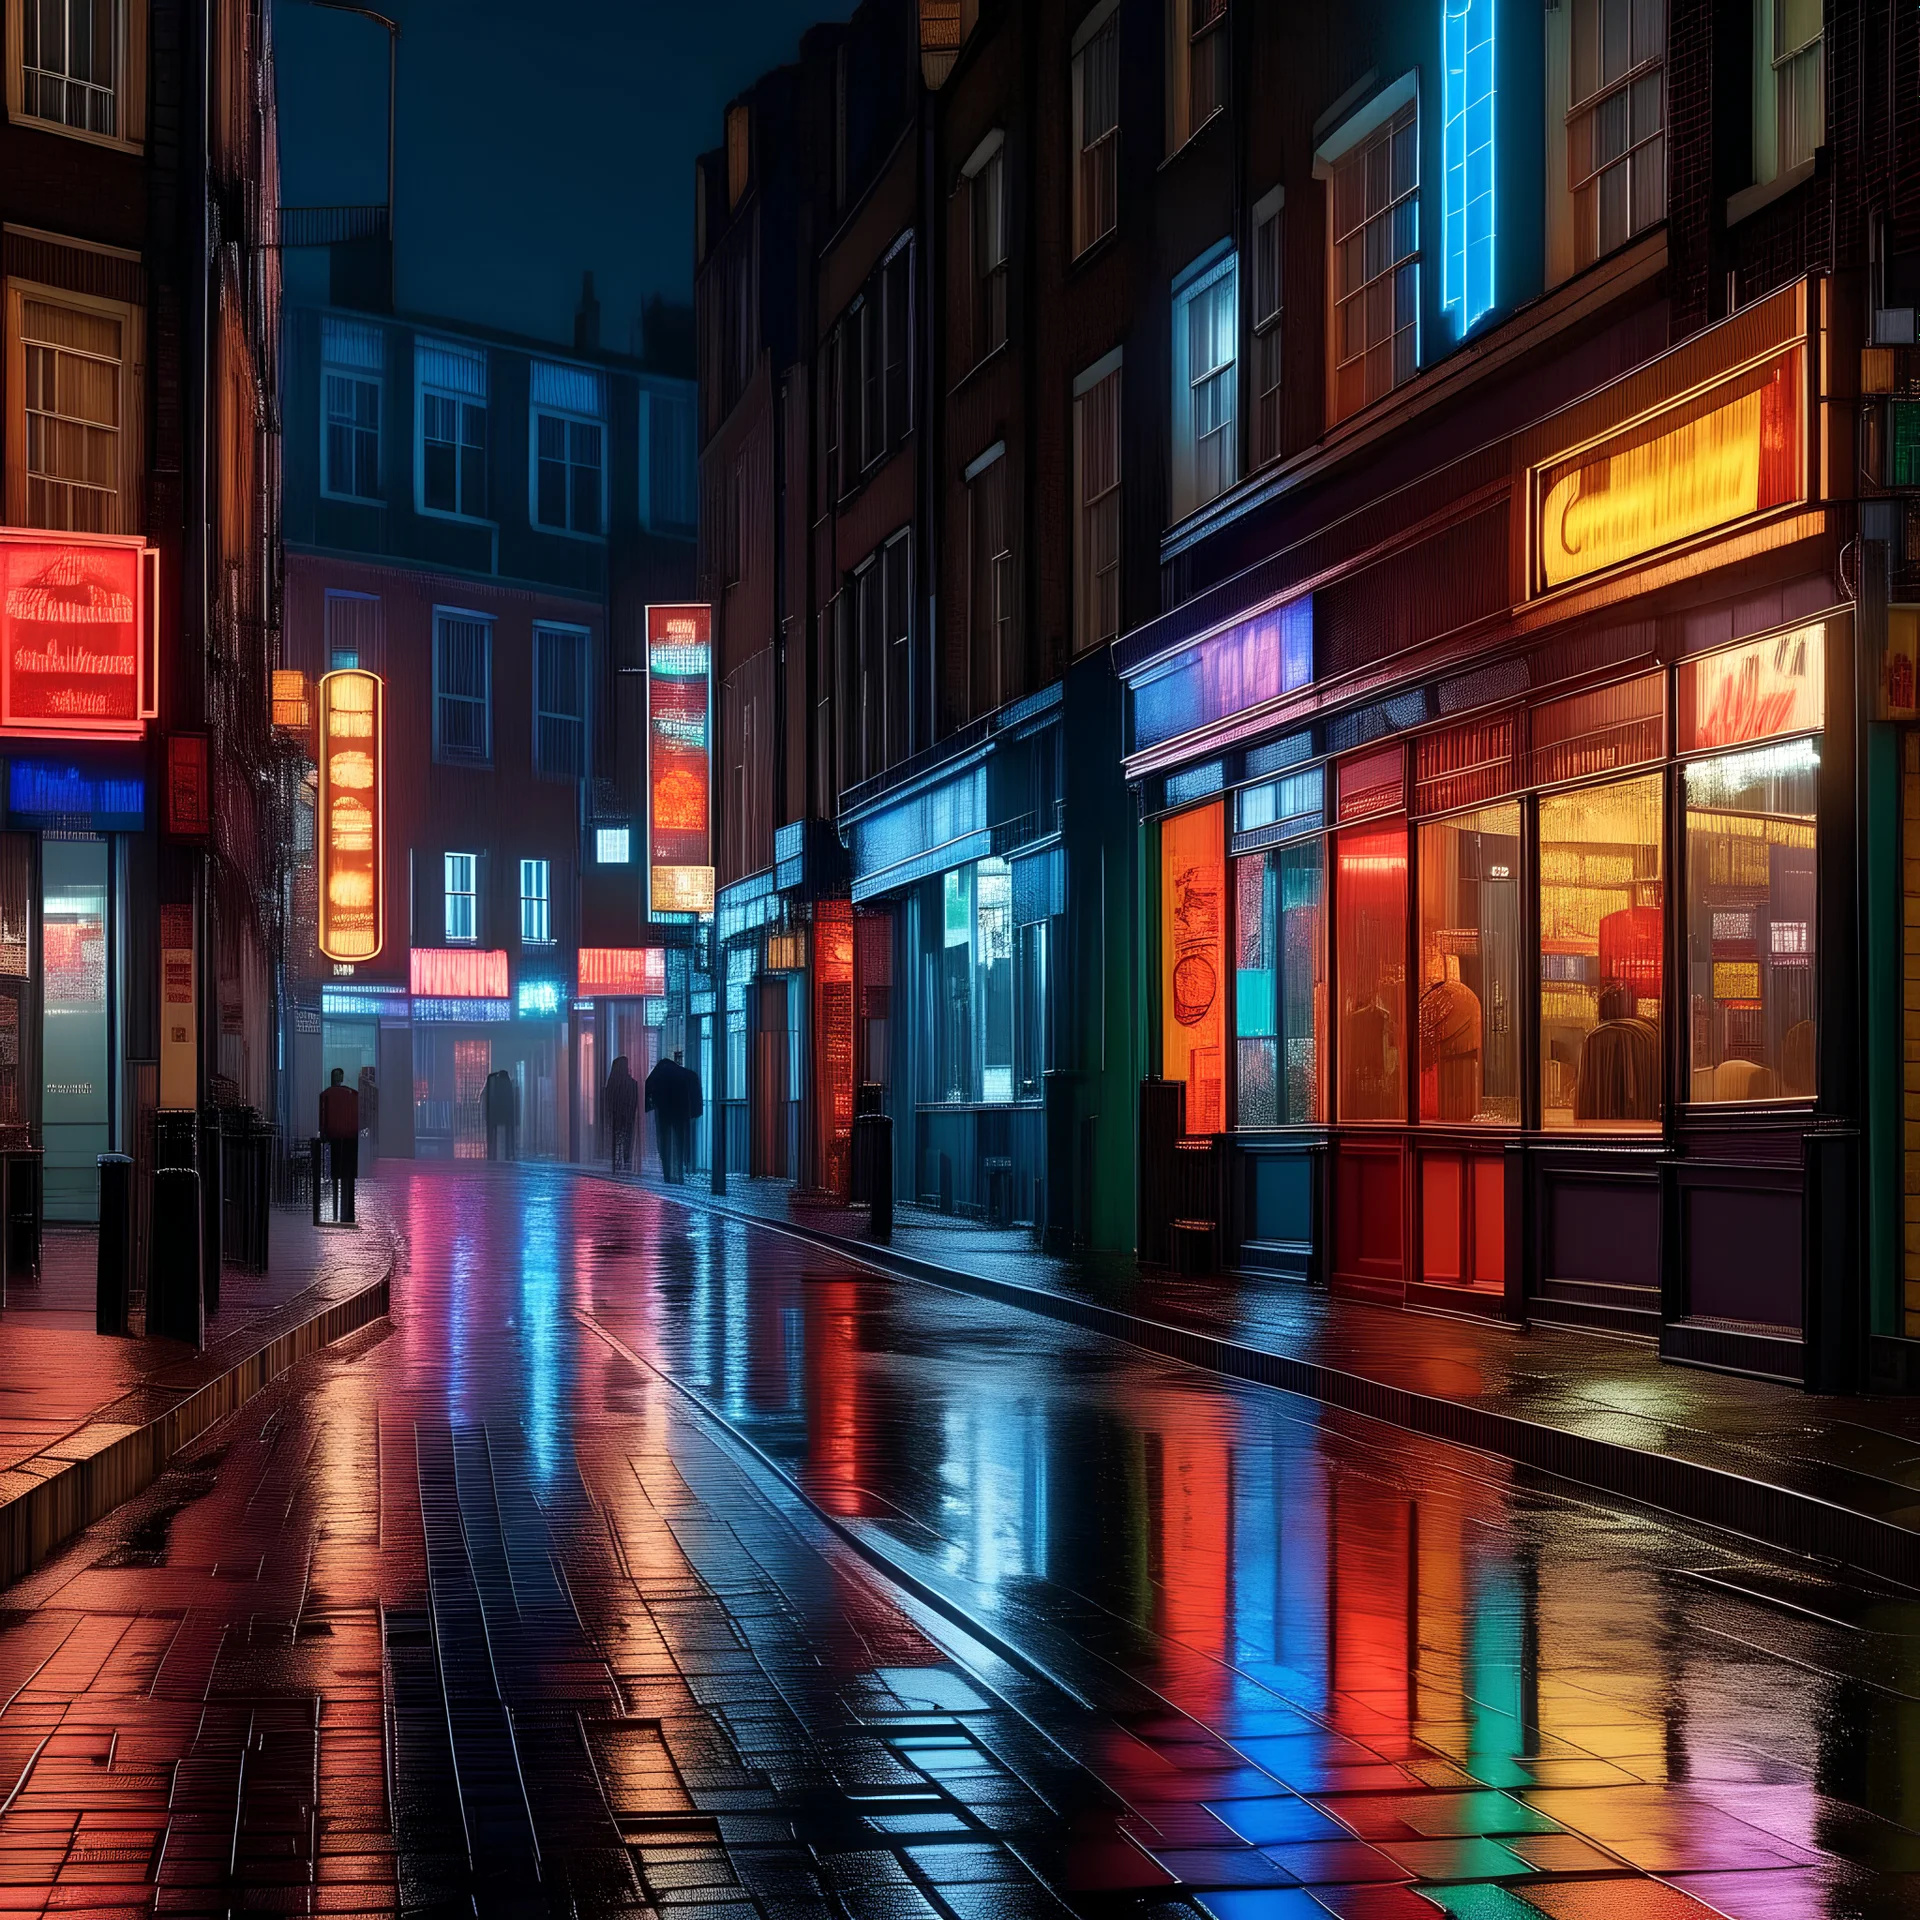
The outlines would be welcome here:
M 94 1331 L 96 1236 L 48 1227 L 40 1275 L 0 1311 L 0 1584 L 148 1486 L 167 1459 L 294 1359 L 386 1311 L 392 1215 L 361 1187 L 361 1227 L 275 1210 L 265 1273 L 227 1267 L 205 1346 Z

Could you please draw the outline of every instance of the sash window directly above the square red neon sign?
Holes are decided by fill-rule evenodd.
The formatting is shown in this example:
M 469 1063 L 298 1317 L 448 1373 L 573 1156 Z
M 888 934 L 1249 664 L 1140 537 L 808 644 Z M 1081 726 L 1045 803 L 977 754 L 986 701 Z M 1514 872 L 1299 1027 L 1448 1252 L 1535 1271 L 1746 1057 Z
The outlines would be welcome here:
M 10 372 L 21 396 L 8 515 L 75 534 L 140 524 L 140 313 L 8 284 Z M 17 382 L 17 384 L 15 384 Z

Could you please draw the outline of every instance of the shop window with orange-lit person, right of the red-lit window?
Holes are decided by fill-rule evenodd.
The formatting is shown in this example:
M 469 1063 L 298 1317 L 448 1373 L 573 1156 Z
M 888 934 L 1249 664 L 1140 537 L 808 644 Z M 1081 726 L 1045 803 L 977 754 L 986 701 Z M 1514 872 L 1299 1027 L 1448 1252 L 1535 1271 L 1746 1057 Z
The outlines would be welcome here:
M 1521 1119 L 1521 808 L 1421 828 L 1421 1119 Z

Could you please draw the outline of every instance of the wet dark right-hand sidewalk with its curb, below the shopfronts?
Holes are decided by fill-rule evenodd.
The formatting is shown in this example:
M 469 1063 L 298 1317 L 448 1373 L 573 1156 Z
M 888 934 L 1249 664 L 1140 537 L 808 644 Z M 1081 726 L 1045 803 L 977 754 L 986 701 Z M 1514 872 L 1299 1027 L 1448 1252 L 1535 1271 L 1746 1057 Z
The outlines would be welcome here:
M 891 1244 L 876 1246 L 864 1210 L 795 1194 L 783 1181 L 735 1177 L 724 1200 L 649 1173 L 636 1185 L 1920 1586 L 1920 1398 L 1805 1394 L 1663 1361 L 1634 1340 L 1371 1306 L 1283 1281 L 1056 1260 L 1023 1229 L 914 1206 L 895 1212 Z

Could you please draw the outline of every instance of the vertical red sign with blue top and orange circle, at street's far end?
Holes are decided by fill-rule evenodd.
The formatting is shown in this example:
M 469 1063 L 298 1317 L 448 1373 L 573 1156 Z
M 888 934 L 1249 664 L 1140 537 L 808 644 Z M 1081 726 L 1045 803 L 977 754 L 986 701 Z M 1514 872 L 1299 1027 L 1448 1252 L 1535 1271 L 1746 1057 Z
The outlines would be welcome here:
M 710 914 L 712 609 L 647 609 L 649 912 Z

